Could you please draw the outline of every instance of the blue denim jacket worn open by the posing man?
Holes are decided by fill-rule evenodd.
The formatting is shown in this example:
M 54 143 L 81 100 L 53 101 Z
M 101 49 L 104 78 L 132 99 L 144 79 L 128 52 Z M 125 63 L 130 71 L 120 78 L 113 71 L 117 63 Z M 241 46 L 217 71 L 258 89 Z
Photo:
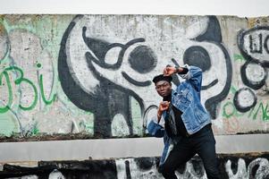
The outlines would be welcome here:
M 200 102 L 200 90 L 202 85 L 202 71 L 196 66 L 186 64 L 189 72 L 181 74 L 186 81 L 172 90 L 172 105 L 181 110 L 181 119 L 186 127 L 189 135 L 198 132 L 206 124 L 211 123 L 210 115 Z M 149 124 L 147 124 L 147 132 L 155 137 L 164 137 L 164 150 L 160 161 L 160 165 L 164 164 L 172 146 L 181 140 L 181 137 L 168 137 L 164 130 L 164 119 L 166 112 L 163 113 L 160 123 L 157 123 L 155 116 Z

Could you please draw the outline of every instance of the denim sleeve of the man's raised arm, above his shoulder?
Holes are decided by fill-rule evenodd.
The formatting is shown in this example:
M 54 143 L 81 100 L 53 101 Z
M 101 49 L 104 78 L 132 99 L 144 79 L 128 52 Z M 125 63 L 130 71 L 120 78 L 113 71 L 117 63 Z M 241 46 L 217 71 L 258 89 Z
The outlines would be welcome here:
M 197 66 L 189 66 L 185 64 L 189 72 L 186 74 L 181 74 L 181 78 L 186 79 L 192 85 L 192 87 L 200 92 L 202 87 L 202 70 Z

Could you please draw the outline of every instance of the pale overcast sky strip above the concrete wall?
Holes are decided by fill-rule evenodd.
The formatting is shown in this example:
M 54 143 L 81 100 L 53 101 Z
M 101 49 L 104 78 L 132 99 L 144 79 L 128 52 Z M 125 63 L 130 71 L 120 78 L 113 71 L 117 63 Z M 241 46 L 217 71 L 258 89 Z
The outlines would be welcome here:
M 0 0 L 0 13 L 269 15 L 269 0 Z

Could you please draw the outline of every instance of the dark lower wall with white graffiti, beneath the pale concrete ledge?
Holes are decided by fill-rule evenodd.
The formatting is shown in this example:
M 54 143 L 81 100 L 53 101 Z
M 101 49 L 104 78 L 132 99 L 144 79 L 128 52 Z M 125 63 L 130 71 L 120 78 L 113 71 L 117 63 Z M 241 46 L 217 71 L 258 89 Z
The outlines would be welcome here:
M 219 155 L 218 167 L 223 179 L 269 178 L 268 153 Z M 164 178 L 157 171 L 159 158 L 117 158 L 85 161 L 41 161 L 36 167 L 5 164 L 1 177 L 27 178 Z M 200 158 L 195 157 L 176 170 L 178 178 L 206 179 Z

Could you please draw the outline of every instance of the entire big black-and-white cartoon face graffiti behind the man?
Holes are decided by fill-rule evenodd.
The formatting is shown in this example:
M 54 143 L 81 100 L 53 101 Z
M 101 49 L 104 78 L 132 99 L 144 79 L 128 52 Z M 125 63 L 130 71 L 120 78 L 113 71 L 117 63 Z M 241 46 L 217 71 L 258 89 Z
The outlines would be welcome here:
M 96 21 L 99 18 L 107 23 L 103 29 L 97 30 L 101 23 Z M 116 133 L 113 131 L 117 130 L 112 124 L 124 119 L 125 123 L 121 122 L 126 128 L 124 133 L 135 134 L 130 98 L 138 101 L 140 117 L 145 127 L 147 120 L 156 114 L 157 104 L 161 100 L 157 97 L 151 80 L 162 72 L 166 64 L 201 67 L 205 73 L 202 101 L 213 118 L 216 118 L 216 107 L 229 92 L 232 74 L 231 59 L 222 45 L 217 19 L 214 16 L 202 20 L 194 19 L 206 32 L 201 34 L 202 30 L 191 29 L 191 38 L 179 33 L 181 29 L 172 25 L 174 21 L 164 21 L 179 34 L 165 31 L 165 37 L 156 42 L 156 35 L 152 37 L 147 33 L 161 33 L 156 27 L 156 17 L 145 17 L 147 21 L 143 22 L 144 17 L 122 16 L 122 20 L 118 21 L 121 25 L 115 27 L 112 21 L 117 18 L 118 16 L 102 15 L 77 16 L 65 31 L 61 43 L 58 72 L 63 91 L 77 107 L 94 113 L 94 132 L 112 136 Z M 138 22 L 136 28 L 142 31 L 135 35 L 118 31 L 123 24 L 127 30 L 135 28 L 134 21 Z M 177 50 L 171 52 L 167 45 L 171 44 L 172 35 L 189 45 L 173 40 Z M 179 48 L 186 50 L 182 54 Z M 177 56 L 176 59 L 183 60 L 169 60 L 173 55 Z M 222 75 L 216 72 L 217 69 L 222 69 Z M 173 84 L 177 85 L 179 82 L 179 76 L 173 79 Z

